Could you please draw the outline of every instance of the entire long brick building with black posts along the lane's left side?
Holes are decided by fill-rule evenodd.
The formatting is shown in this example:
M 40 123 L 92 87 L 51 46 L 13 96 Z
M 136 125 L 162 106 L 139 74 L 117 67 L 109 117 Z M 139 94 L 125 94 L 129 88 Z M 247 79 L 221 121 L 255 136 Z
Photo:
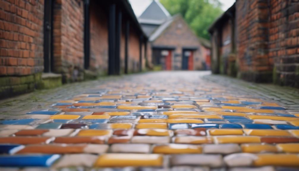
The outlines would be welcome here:
M 127 0 L 0 0 L 2 98 L 141 71 L 147 36 Z

